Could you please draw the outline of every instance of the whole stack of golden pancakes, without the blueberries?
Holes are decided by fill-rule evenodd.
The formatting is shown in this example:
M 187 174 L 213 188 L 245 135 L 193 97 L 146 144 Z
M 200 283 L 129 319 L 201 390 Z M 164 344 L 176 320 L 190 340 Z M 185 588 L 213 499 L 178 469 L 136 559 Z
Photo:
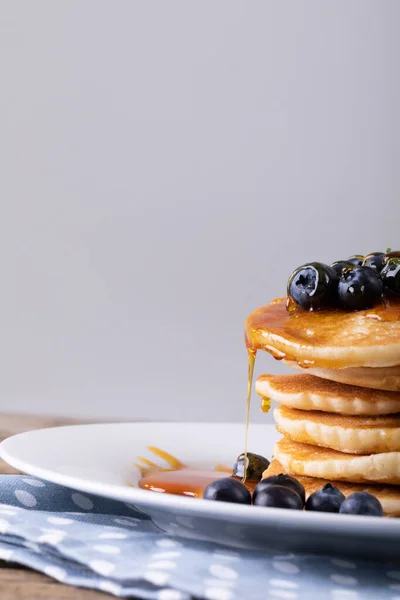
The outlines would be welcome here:
M 262 375 L 256 391 L 283 434 L 264 477 L 294 475 L 307 495 L 325 483 L 369 491 L 400 516 L 400 300 L 358 311 L 286 310 L 278 299 L 246 321 L 249 350 L 300 369 Z

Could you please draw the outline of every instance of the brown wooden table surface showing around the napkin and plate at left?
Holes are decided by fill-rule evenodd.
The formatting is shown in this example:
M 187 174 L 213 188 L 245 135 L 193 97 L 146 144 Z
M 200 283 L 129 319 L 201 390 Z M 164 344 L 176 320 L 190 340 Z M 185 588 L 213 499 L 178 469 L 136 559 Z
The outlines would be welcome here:
M 0 415 L 0 441 L 23 431 L 76 423 L 71 419 Z M 0 473 L 18 471 L 0 459 Z M 113 597 L 103 592 L 63 585 L 41 573 L 0 561 L 0 600 L 105 600 Z

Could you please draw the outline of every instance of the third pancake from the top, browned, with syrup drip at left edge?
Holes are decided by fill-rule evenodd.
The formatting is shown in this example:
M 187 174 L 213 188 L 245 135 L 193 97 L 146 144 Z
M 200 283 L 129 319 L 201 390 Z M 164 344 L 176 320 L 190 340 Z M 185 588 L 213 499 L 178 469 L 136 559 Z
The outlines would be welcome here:
M 382 392 L 321 379 L 314 375 L 261 375 L 256 392 L 291 408 L 342 415 L 400 413 L 400 393 Z

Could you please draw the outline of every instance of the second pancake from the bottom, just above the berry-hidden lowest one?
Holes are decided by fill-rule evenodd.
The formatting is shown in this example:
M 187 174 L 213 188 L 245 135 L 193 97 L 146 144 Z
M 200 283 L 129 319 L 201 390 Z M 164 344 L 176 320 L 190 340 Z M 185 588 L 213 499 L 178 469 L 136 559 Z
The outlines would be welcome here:
M 400 484 L 400 452 L 353 455 L 283 437 L 274 458 L 292 473 L 352 483 Z

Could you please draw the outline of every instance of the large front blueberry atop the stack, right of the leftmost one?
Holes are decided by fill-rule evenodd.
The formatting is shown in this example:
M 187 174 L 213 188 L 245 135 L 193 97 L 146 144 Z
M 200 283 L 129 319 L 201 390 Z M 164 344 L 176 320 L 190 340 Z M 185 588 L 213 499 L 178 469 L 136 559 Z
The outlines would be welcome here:
M 382 280 L 371 267 L 354 267 L 345 271 L 339 280 L 340 303 L 350 310 L 371 308 L 382 292 Z

